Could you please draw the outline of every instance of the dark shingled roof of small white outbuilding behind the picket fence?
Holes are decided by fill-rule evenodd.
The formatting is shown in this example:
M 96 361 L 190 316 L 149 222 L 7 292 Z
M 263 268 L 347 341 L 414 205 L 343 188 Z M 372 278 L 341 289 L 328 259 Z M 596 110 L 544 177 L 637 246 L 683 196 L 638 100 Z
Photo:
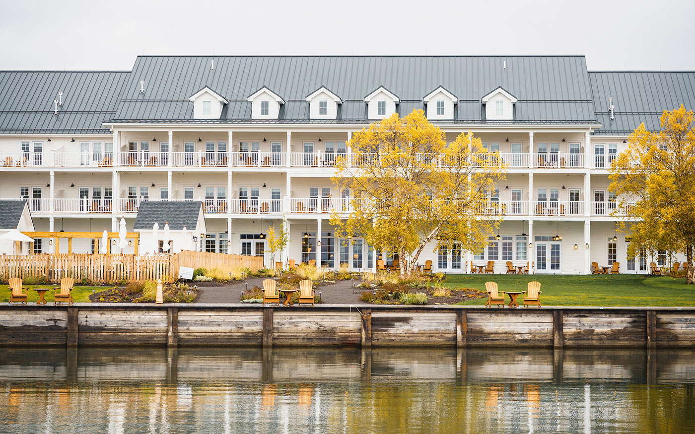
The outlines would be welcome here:
M 152 230 L 154 222 L 157 222 L 160 230 L 163 230 L 164 225 L 169 223 L 169 228 L 172 231 L 183 230 L 184 224 L 188 231 L 195 231 L 202 207 L 201 201 L 142 202 L 138 207 L 138 216 L 135 219 L 133 229 Z

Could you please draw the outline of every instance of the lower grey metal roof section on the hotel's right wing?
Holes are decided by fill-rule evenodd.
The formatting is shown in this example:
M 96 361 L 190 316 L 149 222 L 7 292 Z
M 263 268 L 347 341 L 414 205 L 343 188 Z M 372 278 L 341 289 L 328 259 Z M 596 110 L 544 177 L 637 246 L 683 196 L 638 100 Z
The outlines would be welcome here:
M 644 122 L 648 131 L 661 129 L 664 110 L 681 104 L 695 108 L 695 72 L 589 72 L 597 135 L 628 135 Z M 614 120 L 608 98 L 613 97 Z

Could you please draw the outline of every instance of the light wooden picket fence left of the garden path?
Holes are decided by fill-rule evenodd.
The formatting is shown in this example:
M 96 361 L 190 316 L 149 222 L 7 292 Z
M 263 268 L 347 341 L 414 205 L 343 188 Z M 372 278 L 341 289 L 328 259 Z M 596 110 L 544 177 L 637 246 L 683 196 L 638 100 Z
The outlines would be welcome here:
M 72 277 L 76 282 L 118 283 L 157 279 L 172 282 L 179 276 L 179 267 L 218 268 L 225 271 L 249 268 L 257 272 L 263 268 L 263 258 L 202 251 L 148 256 L 88 253 L 0 256 L 0 278 L 5 282 L 10 277 L 46 283 L 58 283 L 63 277 Z

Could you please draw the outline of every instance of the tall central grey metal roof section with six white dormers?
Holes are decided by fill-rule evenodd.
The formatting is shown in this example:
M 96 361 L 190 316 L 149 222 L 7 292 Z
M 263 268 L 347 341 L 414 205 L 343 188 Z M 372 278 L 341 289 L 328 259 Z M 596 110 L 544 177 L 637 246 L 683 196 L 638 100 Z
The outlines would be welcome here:
M 250 119 L 246 98 L 263 86 L 286 101 L 281 120 L 309 119 L 304 98 L 321 86 L 343 99 L 339 119 L 364 120 L 364 96 L 379 86 L 406 115 L 441 85 L 459 97 L 459 121 L 483 120 L 480 99 L 502 86 L 520 121 L 595 122 L 584 56 L 138 56 L 114 119 L 192 119 L 188 98 L 206 85 L 229 100 L 230 120 Z

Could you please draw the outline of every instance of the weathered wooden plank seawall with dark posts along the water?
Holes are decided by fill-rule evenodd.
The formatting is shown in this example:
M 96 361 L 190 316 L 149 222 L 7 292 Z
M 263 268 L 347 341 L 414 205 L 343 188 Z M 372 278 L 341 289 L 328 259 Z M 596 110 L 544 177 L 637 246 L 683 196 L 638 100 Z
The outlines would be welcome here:
M 0 306 L 0 346 L 695 348 L 695 308 Z

